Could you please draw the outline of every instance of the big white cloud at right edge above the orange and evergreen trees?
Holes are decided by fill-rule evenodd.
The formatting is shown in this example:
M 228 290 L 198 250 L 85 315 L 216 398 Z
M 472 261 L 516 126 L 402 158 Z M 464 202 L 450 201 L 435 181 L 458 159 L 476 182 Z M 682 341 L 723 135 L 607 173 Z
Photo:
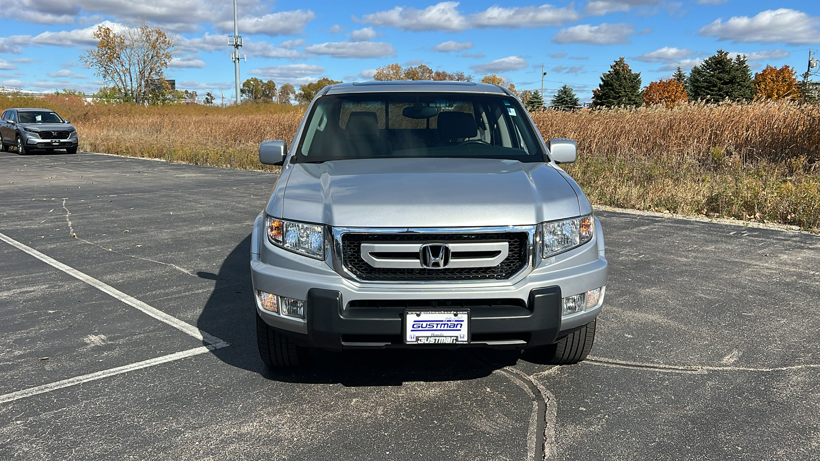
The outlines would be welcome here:
M 814 44 L 820 42 L 820 18 L 803 11 L 780 8 L 761 11 L 753 17 L 732 16 L 726 22 L 717 19 L 698 34 L 733 43 Z

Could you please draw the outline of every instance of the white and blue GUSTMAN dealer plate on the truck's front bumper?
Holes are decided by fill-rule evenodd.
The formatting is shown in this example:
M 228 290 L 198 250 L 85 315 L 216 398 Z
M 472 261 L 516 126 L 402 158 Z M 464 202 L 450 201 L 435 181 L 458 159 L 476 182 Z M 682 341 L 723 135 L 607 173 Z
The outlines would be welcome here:
M 404 343 L 463 345 L 470 342 L 470 311 L 405 311 Z

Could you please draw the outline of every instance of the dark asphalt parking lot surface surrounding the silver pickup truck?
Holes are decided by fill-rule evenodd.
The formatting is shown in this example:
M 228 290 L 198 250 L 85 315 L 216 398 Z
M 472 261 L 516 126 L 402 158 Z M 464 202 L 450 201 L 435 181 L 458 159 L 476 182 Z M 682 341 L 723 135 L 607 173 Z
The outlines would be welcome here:
M 820 237 L 598 213 L 593 357 L 257 356 L 276 175 L 0 153 L 0 459 L 820 459 Z

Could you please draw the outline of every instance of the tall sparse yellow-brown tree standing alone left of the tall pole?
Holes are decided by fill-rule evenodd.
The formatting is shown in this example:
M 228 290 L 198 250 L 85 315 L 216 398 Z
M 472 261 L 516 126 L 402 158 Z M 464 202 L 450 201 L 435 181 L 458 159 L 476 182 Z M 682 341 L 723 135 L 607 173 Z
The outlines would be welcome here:
M 167 92 L 164 71 L 173 57 L 174 41 L 148 22 L 112 30 L 99 25 L 94 32 L 97 48 L 88 50 L 80 60 L 109 88 L 120 93 L 122 101 L 137 104 L 157 99 L 152 92 Z

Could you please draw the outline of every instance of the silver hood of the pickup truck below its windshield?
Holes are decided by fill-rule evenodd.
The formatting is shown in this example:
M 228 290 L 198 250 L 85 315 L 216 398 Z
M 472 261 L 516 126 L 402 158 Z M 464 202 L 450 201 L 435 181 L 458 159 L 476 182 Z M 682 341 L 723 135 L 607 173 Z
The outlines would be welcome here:
M 368 158 L 290 166 L 282 217 L 341 227 L 528 226 L 580 214 L 548 163 Z M 268 210 L 276 216 L 278 210 Z

